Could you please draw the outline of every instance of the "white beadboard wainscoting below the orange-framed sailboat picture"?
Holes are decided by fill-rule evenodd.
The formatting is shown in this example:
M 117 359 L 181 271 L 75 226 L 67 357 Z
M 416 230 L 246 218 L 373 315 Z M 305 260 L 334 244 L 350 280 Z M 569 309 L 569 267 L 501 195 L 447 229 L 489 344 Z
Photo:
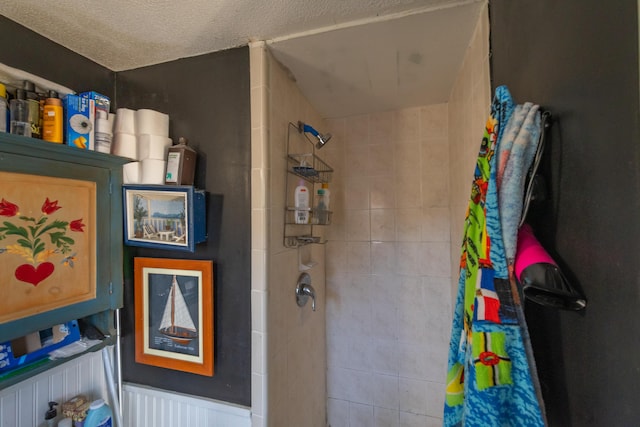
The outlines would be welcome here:
M 251 427 L 244 406 L 125 383 L 123 423 L 126 427 Z

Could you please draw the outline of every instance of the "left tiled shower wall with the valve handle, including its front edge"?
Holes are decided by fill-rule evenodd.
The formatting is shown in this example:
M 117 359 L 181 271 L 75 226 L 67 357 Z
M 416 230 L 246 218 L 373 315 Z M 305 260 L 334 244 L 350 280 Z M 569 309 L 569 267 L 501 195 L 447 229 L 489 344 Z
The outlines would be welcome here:
M 264 43 L 251 45 L 251 104 L 252 425 L 324 427 L 325 247 L 287 249 L 283 229 L 289 123 L 327 126 Z M 300 255 L 318 263 L 315 312 L 296 305 Z

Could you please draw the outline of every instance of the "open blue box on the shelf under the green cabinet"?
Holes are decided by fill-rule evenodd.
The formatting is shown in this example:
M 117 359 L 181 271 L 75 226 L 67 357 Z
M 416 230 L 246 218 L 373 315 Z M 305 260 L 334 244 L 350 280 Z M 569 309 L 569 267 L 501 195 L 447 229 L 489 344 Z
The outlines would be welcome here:
M 53 350 L 79 339 L 78 322 L 72 320 L 22 338 L 0 343 L 0 374 L 44 359 Z

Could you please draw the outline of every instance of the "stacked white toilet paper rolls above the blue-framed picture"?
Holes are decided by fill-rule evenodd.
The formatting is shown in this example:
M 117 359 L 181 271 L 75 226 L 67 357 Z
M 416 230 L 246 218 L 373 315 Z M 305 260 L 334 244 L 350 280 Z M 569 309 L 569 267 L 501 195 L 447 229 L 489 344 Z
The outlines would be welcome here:
M 125 184 L 164 184 L 171 142 L 167 114 L 148 109 L 116 110 L 112 153 L 135 160 L 124 165 Z

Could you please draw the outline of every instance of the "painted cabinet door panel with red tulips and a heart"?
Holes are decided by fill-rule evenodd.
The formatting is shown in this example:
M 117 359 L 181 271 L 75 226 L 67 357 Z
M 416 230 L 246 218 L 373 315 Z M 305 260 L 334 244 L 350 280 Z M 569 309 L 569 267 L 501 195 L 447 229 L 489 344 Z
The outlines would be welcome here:
M 0 171 L 0 323 L 96 298 L 96 183 Z

